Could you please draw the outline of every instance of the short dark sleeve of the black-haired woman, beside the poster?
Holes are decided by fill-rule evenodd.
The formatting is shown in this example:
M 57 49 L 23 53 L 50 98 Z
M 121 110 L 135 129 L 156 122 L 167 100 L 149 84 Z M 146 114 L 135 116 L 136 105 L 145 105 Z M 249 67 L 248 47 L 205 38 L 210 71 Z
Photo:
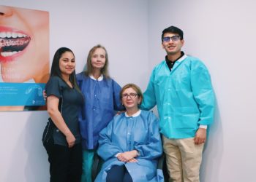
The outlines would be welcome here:
M 45 85 L 45 91 L 47 96 L 54 95 L 57 98 L 61 98 L 59 81 L 60 79 L 57 76 L 50 77 L 49 81 Z

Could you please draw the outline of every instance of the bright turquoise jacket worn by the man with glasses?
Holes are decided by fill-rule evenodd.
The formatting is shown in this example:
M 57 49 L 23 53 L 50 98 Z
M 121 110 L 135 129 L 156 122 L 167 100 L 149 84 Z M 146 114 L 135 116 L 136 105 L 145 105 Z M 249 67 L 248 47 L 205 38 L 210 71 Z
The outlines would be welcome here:
M 206 66 L 184 55 L 169 70 L 165 60 L 152 71 L 140 108 L 157 105 L 160 132 L 167 138 L 195 137 L 200 124 L 214 121 L 215 96 Z

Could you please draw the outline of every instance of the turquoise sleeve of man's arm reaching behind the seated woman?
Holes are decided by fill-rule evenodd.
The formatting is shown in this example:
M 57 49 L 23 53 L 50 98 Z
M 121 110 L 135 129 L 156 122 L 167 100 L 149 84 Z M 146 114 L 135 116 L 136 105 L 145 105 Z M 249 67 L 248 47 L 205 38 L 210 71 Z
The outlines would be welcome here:
M 143 93 L 143 101 L 140 104 L 140 108 L 143 110 L 150 110 L 151 108 L 154 108 L 157 104 L 157 99 L 154 91 L 154 72 L 152 71 L 152 74 L 150 76 L 148 87 L 146 88 L 146 91 Z

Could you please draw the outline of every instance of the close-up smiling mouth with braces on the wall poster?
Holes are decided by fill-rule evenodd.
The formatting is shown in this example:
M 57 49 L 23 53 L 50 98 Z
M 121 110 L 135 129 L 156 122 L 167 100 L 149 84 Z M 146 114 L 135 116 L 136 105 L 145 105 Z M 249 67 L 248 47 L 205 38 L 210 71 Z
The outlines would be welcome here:
M 0 6 L 0 63 L 4 82 L 47 82 L 49 14 Z

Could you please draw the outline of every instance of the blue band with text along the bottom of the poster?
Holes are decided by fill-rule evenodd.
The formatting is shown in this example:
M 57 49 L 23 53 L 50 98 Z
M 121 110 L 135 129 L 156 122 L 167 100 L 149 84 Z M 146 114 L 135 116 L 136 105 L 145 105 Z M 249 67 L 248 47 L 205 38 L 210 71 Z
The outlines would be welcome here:
M 0 106 L 44 106 L 45 84 L 0 83 Z

